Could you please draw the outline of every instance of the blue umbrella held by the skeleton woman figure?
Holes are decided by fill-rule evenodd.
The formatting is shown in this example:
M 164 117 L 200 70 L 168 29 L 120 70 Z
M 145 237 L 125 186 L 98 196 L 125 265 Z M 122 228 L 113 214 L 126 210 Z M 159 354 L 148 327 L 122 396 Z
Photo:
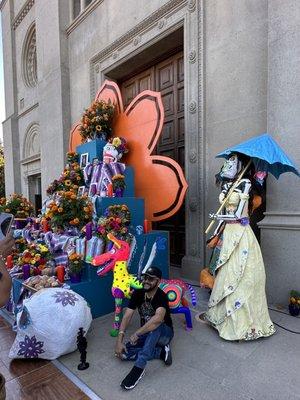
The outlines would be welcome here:
M 284 172 L 293 172 L 300 176 L 294 163 L 267 133 L 230 147 L 219 153 L 217 157 L 228 158 L 232 153 L 251 157 L 257 171 L 270 172 L 276 179 Z

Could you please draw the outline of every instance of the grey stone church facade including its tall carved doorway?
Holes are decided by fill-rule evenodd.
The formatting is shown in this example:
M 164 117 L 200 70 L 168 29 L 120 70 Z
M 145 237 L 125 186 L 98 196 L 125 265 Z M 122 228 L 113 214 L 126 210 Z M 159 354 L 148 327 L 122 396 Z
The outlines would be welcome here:
M 160 152 L 176 153 L 189 183 L 186 278 L 207 262 L 216 153 L 268 131 L 300 165 L 297 0 L 3 0 L 1 11 L 8 194 L 45 193 L 105 78 L 120 83 L 125 102 L 147 88 L 163 94 Z M 261 245 L 274 303 L 299 289 L 299 195 L 296 176 L 268 180 Z

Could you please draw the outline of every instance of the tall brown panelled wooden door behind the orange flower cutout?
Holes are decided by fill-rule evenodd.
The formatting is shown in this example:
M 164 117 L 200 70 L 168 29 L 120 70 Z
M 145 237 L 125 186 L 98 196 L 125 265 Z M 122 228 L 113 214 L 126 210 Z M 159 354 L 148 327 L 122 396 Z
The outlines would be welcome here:
M 125 106 L 143 90 L 161 93 L 165 109 L 163 131 L 155 154 L 170 157 L 184 170 L 184 62 L 183 53 L 153 65 L 119 82 Z M 180 267 L 185 254 L 185 207 L 173 217 L 155 223 L 154 229 L 170 232 L 170 261 Z

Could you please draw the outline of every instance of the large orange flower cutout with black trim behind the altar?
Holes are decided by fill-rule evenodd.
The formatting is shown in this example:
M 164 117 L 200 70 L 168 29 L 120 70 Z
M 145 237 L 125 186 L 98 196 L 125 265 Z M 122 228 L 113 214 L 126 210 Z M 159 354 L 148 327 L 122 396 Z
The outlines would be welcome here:
M 146 90 L 124 111 L 118 85 L 105 81 L 96 99 L 110 99 L 116 105 L 114 136 L 122 136 L 128 142 L 125 162 L 134 168 L 135 194 L 145 199 L 146 219 L 161 221 L 171 217 L 182 205 L 188 185 L 176 161 L 152 155 L 164 121 L 160 93 Z M 81 143 L 79 127 L 80 123 L 76 123 L 71 130 L 70 151 Z

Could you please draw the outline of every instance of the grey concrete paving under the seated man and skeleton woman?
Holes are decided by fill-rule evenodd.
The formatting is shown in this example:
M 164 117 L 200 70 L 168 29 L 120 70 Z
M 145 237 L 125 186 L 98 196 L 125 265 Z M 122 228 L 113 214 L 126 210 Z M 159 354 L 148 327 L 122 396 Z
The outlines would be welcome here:
M 201 293 L 200 297 L 205 296 Z M 205 302 L 200 302 L 198 310 L 204 307 Z M 300 331 L 299 318 L 275 311 L 271 317 Z M 151 361 L 139 385 L 124 392 L 119 383 L 132 364 L 113 356 L 115 339 L 108 334 L 112 319 L 108 315 L 93 321 L 88 336 L 88 370 L 77 370 L 78 353 L 60 358 L 103 400 L 300 400 L 299 335 L 278 328 L 268 339 L 230 343 L 195 319 L 193 331 L 186 332 L 178 315 L 173 317 L 172 366 Z

